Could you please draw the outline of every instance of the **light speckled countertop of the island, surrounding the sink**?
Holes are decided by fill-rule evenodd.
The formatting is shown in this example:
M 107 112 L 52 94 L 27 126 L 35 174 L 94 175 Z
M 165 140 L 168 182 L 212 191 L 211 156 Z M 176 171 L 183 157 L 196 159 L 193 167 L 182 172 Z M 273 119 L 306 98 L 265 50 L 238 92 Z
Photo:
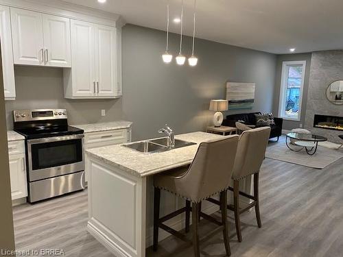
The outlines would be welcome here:
M 196 145 L 180 147 L 155 154 L 143 154 L 123 145 L 110 145 L 107 147 L 87 149 L 86 153 L 113 167 L 118 167 L 123 171 L 139 177 L 145 177 L 190 164 L 196 156 L 196 151 L 200 143 L 207 140 L 223 138 L 223 136 L 205 132 L 193 132 L 180 134 L 175 136 L 175 138 L 193 142 Z

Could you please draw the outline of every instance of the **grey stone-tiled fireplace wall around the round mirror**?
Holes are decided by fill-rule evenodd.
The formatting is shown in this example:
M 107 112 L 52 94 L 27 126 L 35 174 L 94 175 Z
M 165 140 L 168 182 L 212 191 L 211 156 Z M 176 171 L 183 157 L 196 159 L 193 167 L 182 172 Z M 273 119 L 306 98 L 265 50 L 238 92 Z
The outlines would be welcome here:
M 342 131 L 314 127 L 314 114 L 343 117 L 343 106 L 331 103 L 326 96 L 329 84 L 340 79 L 343 79 L 343 51 L 312 53 L 305 127 L 314 134 L 326 136 L 329 141 L 335 143 L 342 143 L 338 138 Z

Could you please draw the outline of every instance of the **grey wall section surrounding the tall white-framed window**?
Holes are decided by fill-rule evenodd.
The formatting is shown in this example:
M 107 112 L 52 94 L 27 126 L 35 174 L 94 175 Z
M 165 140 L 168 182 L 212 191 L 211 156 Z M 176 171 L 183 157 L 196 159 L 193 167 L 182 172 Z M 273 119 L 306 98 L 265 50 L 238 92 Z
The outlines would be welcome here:
M 307 92 L 309 89 L 309 71 L 311 67 L 311 53 L 295 53 L 295 54 L 283 54 L 276 58 L 276 77 L 275 77 L 275 93 L 274 93 L 274 108 L 273 113 L 277 117 L 279 112 L 279 97 L 281 87 L 281 73 L 282 63 L 286 61 L 306 61 L 304 90 L 303 90 L 303 103 L 301 107 L 300 121 L 287 121 L 283 120 L 283 130 L 292 130 L 296 127 L 300 127 L 300 124 L 305 126 L 306 106 L 307 106 Z

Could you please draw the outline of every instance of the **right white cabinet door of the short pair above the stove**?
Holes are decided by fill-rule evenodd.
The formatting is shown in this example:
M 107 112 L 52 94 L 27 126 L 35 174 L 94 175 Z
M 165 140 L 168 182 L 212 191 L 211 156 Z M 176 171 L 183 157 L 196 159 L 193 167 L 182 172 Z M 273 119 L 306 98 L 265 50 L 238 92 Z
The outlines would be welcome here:
M 43 38 L 45 65 L 70 67 L 70 19 L 43 14 Z

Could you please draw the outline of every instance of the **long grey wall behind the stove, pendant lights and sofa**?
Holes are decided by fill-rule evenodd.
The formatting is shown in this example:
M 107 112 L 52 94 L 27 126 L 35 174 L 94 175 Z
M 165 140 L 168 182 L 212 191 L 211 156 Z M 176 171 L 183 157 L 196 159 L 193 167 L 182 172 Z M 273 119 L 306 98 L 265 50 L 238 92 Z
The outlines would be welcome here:
M 123 27 L 123 97 L 115 100 L 63 98 L 62 69 L 16 66 L 16 100 L 6 102 L 8 127 L 12 110 L 67 108 L 69 123 L 133 121 L 134 140 L 157 136 L 165 123 L 176 133 L 204 130 L 211 124 L 210 99 L 225 98 L 225 85 L 255 82 L 252 110 L 270 112 L 274 100 L 276 56 L 207 40 L 196 40 L 198 66 L 164 64 L 165 32 L 135 25 Z M 179 36 L 171 34 L 170 50 L 178 53 Z M 191 38 L 185 37 L 189 55 Z M 101 110 L 106 117 L 101 117 Z M 224 116 L 230 112 L 224 113 Z

